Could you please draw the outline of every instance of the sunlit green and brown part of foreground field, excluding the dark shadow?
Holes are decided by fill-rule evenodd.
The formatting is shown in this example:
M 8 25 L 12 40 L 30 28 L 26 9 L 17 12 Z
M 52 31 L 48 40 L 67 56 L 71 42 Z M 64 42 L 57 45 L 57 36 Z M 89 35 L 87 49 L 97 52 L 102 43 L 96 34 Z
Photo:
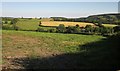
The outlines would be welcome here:
M 50 58 L 66 53 L 69 54 L 84 52 L 84 50 L 80 49 L 81 45 L 97 42 L 105 38 L 96 35 L 59 34 L 59 33 L 7 31 L 7 30 L 3 30 L 2 33 L 3 33 L 3 68 L 6 67 L 12 69 L 17 68 L 21 69 L 27 65 L 25 64 L 21 66 L 20 63 L 18 64 L 17 62 L 14 63 L 13 61 L 15 59 L 23 58 L 22 60 L 25 60 L 24 58 L 26 57 L 29 57 L 29 59 L 39 57 Z M 34 62 L 35 61 L 36 60 L 34 60 Z M 34 62 L 32 65 L 36 65 L 37 63 L 39 63 L 39 61 L 35 63 Z M 51 65 L 51 63 L 48 65 Z M 37 65 L 36 67 L 39 66 L 40 65 Z M 42 66 L 44 68 L 44 66 L 46 65 L 43 64 Z M 59 67 L 59 64 L 56 66 Z

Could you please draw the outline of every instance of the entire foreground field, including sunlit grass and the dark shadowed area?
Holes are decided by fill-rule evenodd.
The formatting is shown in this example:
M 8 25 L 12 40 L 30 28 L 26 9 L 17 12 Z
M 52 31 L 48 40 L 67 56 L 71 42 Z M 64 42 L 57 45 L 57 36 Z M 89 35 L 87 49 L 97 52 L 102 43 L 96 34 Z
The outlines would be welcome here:
M 112 48 L 117 45 L 105 40 L 103 36 L 9 30 L 2 32 L 3 67 L 6 68 L 89 69 L 119 66 L 116 50 Z

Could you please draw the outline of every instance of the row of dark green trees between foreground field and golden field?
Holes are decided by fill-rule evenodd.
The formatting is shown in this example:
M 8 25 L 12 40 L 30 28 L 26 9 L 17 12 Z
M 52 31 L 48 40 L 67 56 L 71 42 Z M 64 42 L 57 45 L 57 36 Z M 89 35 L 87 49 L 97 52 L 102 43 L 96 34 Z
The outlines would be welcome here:
M 120 26 L 116 27 L 104 27 L 103 25 L 98 25 L 93 27 L 91 25 L 86 25 L 85 27 L 80 27 L 78 24 L 75 26 L 65 27 L 64 24 L 60 24 L 55 29 L 45 30 L 39 27 L 36 31 L 38 32 L 53 32 L 53 33 L 71 33 L 71 34 L 97 34 L 97 35 L 112 35 L 120 31 Z

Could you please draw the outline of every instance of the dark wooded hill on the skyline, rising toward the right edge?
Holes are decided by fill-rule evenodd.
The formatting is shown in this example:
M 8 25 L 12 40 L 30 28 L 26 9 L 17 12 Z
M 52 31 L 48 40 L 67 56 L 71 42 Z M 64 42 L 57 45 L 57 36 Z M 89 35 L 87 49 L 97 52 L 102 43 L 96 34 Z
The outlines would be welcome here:
M 90 22 L 120 25 L 120 13 L 91 15 L 84 18 L 51 17 L 54 21 Z

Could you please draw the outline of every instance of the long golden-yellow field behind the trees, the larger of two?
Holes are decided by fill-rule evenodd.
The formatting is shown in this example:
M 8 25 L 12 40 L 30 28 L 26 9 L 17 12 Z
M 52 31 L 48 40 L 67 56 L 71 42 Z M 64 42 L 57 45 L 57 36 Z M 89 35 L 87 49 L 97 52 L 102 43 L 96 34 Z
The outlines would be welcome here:
M 85 27 L 86 25 L 95 26 L 92 23 L 85 23 L 85 22 L 63 22 L 63 21 L 42 21 L 43 26 L 59 26 L 59 24 L 64 24 L 67 26 L 75 26 L 78 24 L 80 27 Z

